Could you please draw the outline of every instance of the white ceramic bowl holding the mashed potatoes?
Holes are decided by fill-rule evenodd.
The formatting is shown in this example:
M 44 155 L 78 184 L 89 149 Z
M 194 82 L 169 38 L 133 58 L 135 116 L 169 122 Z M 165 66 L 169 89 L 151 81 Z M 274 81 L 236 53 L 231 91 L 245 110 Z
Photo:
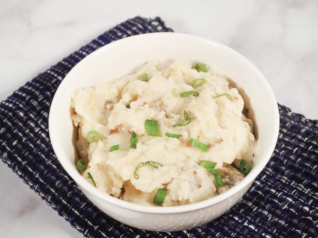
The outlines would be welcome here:
M 256 124 L 258 145 L 251 172 L 236 186 L 216 197 L 176 207 L 149 207 L 125 202 L 101 192 L 76 170 L 76 130 L 71 121 L 71 94 L 79 88 L 120 78 L 149 60 L 181 60 L 216 66 L 239 89 Z M 251 110 L 252 109 L 252 110 Z M 253 113 L 251 113 L 253 112 Z M 131 36 L 101 47 L 79 62 L 64 78 L 52 101 L 49 132 L 59 162 L 100 210 L 129 226 L 152 231 L 197 227 L 222 215 L 245 194 L 265 167 L 279 130 L 278 106 L 265 77 L 245 57 L 218 42 L 179 33 Z

